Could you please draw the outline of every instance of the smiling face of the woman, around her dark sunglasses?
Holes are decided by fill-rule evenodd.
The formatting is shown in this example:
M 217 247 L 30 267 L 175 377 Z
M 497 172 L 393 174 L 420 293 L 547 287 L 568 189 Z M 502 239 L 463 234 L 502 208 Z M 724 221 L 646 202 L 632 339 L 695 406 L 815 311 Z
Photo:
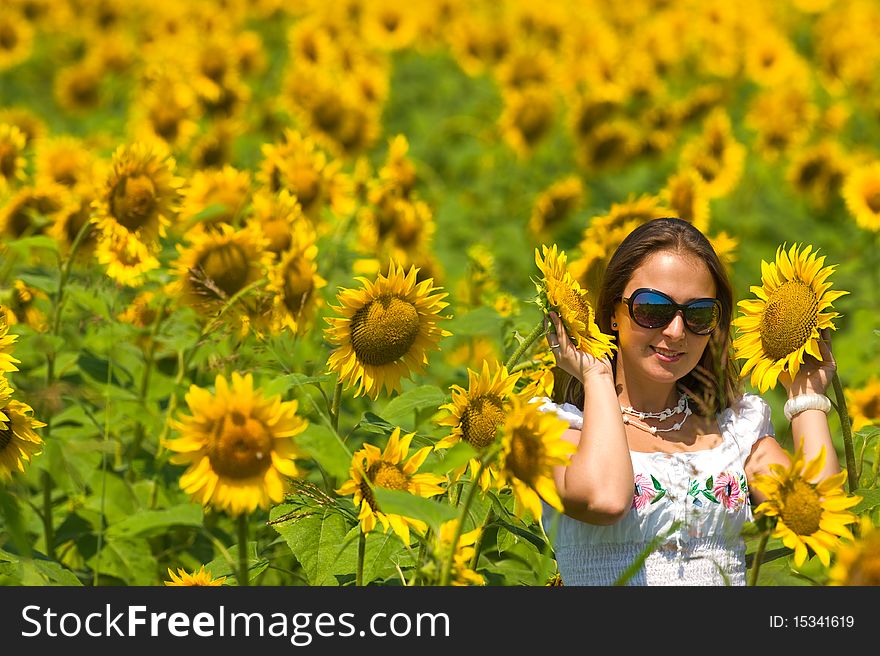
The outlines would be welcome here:
M 648 256 L 624 287 L 623 297 L 647 287 L 661 291 L 677 303 L 697 298 L 715 298 L 715 280 L 709 268 L 693 255 L 660 251 Z M 695 335 L 677 312 L 661 328 L 643 328 L 629 315 L 626 303 L 618 302 L 613 320 L 618 326 L 618 363 L 626 379 L 674 383 L 690 372 L 703 357 L 709 335 Z

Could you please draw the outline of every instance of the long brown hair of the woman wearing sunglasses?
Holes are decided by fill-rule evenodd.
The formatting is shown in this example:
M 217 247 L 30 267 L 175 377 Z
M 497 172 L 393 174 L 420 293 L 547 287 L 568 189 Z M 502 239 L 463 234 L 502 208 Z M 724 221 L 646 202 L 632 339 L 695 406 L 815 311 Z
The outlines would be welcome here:
M 678 381 L 682 391 L 695 402 L 695 412 L 711 415 L 726 408 L 740 396 L 740 376 L 731 357 L 730 323 L 733 316 L 733 290 L 718 254 L 705 235 L 693 225 L 677 218 L 648 221 L 630 232 L 611 256 L 602 275 L 596 301 L 596 323 L 603 333 L 613 334 L 611 317 L 627 283 L 649 255 L 670 251 L 702 261 L 715 280 L 716 297 L 721 302 L 721 319 L 712 332 L 703 357 L 694 369 Z M 617 373 L 617 352 L 611 356 Z M 573 376 L 562 386 L 561 399 L 581 406 L 583 385 Z M 555 393 L 554 396 L 560 396 Z

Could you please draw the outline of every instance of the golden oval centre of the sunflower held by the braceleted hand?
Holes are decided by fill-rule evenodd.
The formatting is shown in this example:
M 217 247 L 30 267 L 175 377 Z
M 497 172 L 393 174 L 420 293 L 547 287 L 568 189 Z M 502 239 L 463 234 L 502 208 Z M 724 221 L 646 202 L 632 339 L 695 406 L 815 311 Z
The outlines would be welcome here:
M 781 360 L 807 343 L 819 322 L 816 293 L 800 280 L 789 280 L 770 294 L 761 317 L 764 353 Z

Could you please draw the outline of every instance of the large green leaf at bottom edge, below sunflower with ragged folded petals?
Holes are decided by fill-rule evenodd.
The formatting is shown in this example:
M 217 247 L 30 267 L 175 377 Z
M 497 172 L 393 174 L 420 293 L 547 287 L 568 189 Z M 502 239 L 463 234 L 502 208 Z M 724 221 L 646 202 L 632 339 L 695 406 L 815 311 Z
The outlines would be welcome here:
M 337 585 L 333 565 L 345 544 L 348 525 L 336 512 L 325 508 L 309 517 L 273 524 L 302 565 L 310 585 Z

